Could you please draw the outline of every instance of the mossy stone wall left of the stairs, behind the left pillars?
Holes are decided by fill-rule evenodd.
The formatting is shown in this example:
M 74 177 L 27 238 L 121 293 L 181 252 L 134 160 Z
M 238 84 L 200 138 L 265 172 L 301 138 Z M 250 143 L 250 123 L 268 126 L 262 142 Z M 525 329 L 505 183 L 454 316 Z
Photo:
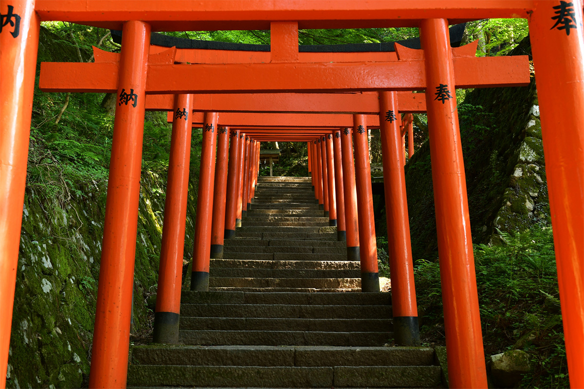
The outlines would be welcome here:
M 79 388 L 89 374 L 105 185 L 68 201 L 27 188 L 8 359 L 8 388 Z M 134 267 L 134 332 L 148 332 L 156 292 L 165 178 L 142 172 Z M 189 188 L 185 255 L 193 248 L 196 190 Z

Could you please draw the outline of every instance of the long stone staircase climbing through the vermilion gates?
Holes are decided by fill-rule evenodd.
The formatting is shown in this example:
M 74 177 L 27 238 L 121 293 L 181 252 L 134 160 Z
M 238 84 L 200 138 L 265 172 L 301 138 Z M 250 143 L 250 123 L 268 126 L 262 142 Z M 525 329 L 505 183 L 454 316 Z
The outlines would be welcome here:
M 442 387 L 432 348 L 384 346 L 390 293 L 347 293 L 359 262 L 328 222 L 310 178 L 260 177 L 209 292 L 182 294 L 184 345 L 134 346 L 128 386 Z

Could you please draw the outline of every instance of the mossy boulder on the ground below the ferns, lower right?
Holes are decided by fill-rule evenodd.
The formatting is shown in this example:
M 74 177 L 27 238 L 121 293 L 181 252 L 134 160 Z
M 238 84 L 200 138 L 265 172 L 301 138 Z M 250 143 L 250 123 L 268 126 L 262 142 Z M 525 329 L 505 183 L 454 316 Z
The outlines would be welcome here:
M 531 371 L 529 354 L 521 350 L 510 350 L 491 356 L 491 376 L 499 388 L 513 388 L 523 374 Z

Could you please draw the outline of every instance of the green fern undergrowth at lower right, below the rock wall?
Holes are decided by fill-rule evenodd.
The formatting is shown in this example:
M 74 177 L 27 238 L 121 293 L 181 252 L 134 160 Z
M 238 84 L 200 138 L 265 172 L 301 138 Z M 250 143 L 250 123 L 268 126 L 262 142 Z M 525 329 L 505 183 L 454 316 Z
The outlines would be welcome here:
M 474 247 L 485 353 L 523 349 L 535 365 L 523 387 L 568 387 L 551 227 L 499 236 Z M 416 261 L 415 279 L 423 340 L 442 344 L 439 264 Z

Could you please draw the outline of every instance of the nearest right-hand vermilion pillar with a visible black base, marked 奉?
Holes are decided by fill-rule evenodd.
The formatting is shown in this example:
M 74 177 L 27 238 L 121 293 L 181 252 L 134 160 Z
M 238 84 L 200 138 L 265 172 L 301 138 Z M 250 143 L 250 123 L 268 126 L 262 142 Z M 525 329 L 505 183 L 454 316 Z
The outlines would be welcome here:
M 420 331 L 416 289 L 413 283 L 408 198 L 399 144 L 397 93 L 380 92 L 379 97 L 394 339 L 397 345 L 416 346 L 420 344 Z

